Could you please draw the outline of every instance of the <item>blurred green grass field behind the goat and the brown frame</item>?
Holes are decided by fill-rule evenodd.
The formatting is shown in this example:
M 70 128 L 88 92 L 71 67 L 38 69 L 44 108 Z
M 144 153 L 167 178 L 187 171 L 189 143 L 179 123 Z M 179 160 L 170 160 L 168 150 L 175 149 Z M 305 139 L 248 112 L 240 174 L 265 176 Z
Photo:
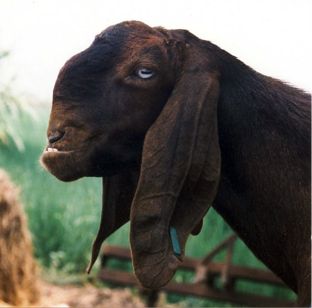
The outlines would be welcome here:
M 0 144 L 0 168 L 11 176 L 21 189 L 21 199 L 28 214 L 35 255 L 42 266 L 62 271 L 62 273 L 84 272 L 90 260 L 91 243 L 96 235 L 101 213 L 101 178 L 82 178 L 71 183 L 63 183 L 45 171 L 39 164 L 39 157 L 46 145 L 46 125 L 48 110 L 41 114 L 41 120 L 34 123 L 29 116 L 23 116 L 22 139 L 25 151 L 19 152 L 14 146 L 7 148 Z M 186 255 L 204 257 L 232 233 L 230 227 L 210 209 L 204 219 L 202 232 L 190 236 L 186 245 Z M 129 223 L 111 235 L 106 242 L 129 247 Z M 225 252 L 215 260 L 222 261 Z M 265 268 L 253 256 L 241 240 L 237 240 L 232 258 L 234 264 Z M 110 267 L 131 270 L 131 265 L 112 261 Z M 95 264 L 93 272 L 99 269 Z M 178 271 L 176 281 L 191 281 L 190 273 Z M 266 296 L 295 298 L 286 288 L 264 284 L 238 282 L 237 289 Z M 229 303 L 208 301 L 192 296 L 169 294 L 169 302 L 180 302 L 188 307 L 227 306 Z

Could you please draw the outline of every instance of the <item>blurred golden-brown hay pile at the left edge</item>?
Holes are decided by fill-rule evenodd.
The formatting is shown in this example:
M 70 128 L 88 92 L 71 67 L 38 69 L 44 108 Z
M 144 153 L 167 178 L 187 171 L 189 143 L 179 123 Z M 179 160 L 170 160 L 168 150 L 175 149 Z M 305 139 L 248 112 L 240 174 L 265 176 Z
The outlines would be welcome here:
M 18 190 L 0 169 L 0 302 L 25 306 L 38 300 L 27 219 Z

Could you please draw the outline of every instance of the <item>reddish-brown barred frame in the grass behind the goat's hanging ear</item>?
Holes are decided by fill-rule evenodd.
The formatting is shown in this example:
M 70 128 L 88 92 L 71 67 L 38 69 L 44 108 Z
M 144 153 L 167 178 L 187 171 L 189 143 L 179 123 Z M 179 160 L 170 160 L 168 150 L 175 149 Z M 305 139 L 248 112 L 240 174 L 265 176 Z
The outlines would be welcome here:
M 203 259 L 185 257 L 180 268 L 194 271 L 195 279 L 193 283 L 170 281 L 166 286 L 159 289 L 148 290 L 139 286 L 133 273 L 111 270 L 105 268 L 109 259 L 119 259 L 131 261 L 131 252 L 128 248 L 105 245 L 102 253 L 102 264 L 99 277 L 102 281 L 116 285 L 138 286 L 141 294 L 148 297 L 147 306 L 153 307 L 158 298 L 159 291 L 173 292 L 183 295 L 193 295 L 209 298 L 217 301 L 226 301 L 234 304 L 246 305 L 250 307 L 292 307 L 294 302 L 279 298 L 261 296 L 254 293 L 243 293 L 235 291 L 236 280 L 247 280 L 261 282 L 276 286 L 285 286 L 270 271 L 264 271 L 247 266 L 237 266 L 231 264 L 233 242 L 236 235 L 228 237 L 219 246 L 213 249 Z M 212 262 L 212 257 L 227 248 L 225 262 Z M 221 277 L 223 288 L 216 288 L 214 281 Z

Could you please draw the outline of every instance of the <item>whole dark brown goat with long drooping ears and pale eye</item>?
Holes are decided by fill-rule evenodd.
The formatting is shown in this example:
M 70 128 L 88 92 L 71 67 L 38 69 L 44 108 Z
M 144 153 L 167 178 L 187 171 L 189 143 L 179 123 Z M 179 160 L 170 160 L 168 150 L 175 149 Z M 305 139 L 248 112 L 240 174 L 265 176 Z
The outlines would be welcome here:
M 122 22 L 61 69 L 47 135 L 41 160 L 58 179 L 103 177 L 88 271 L 105 238 L 130 219 L 137 279 L 165 285 L 213 205 L 298 294 L 298 305 L 310 305 L 311 97 L 304 91 L 186 30 Z

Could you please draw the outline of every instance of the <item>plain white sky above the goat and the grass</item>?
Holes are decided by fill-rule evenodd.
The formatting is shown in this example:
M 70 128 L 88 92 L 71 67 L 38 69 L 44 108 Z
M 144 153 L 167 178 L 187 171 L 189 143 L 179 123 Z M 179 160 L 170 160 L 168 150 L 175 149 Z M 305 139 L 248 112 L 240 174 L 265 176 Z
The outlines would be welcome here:
M 311 92 L 311 0 L 0 0 L 0 81 L 50 102 L 65 61 L 124 20 L 188 29 L 265 75 Z

